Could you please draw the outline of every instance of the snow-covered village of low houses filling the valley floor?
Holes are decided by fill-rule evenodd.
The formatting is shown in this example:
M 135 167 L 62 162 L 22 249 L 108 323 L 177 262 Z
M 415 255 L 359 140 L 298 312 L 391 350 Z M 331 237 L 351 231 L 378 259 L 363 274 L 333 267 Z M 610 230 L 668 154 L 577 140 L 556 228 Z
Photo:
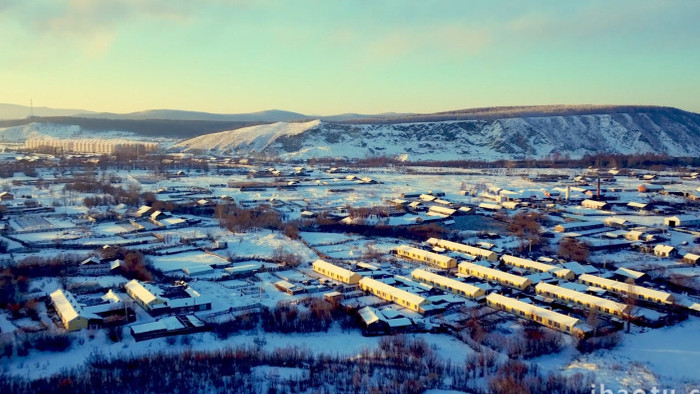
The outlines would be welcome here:
M 460 362 L 698 324 L 697 172 L 144 157 L 0 158 L 10 375 L 101 337 L 133 352 L 423 335 Z

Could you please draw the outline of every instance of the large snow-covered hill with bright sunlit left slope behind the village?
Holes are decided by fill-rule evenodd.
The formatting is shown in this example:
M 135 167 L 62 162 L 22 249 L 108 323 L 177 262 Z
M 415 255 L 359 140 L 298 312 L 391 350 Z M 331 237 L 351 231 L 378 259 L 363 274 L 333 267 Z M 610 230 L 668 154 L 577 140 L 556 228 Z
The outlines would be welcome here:
M 180 150 L 267 153 L 285 158 L 373 156 L 408 160 L 493 160 L 587 153 L 700 155 L 700 115 L 673 108 L 599 114 L 382 124 L 279 122 L 207 134 Z

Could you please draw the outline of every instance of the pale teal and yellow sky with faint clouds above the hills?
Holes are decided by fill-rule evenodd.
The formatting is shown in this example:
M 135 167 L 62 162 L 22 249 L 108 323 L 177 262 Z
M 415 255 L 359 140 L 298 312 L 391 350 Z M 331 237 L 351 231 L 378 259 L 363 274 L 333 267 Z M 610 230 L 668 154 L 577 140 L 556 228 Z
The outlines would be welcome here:
M 700 112 L 697 0 L 0 0 L 0 102 L 104 112 Z

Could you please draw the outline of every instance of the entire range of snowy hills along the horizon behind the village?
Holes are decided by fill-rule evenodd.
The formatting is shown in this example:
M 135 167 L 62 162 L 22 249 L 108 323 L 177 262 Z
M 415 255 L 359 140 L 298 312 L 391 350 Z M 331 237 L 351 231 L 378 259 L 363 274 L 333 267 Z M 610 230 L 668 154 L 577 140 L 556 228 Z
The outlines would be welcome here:
M 93 115 L 0 121 L 0 127 L 6 127 L 0 129 L 0 135 L 3 139 L 51 135 L 55 125 L 61 125 L 73 127 L 74 135 L 105 138 L 115 132 L 133 133 L 135 138 L 186 139 L 175 146 L 184 151 L 286 158 L 492 160 L 549 155 L 577 158 L 603 152 L 700 156 L 700 114 L 655 106 L 493 107 L 325 118 L 277 110 L 240 115 L 157 110 L 127 114 L 122 119 Z M 236 116 L 239 120 L 225 120 Z M 196 117 L 200 119 L 190 119 Z M 288 118 L 292 122 L 274 120 Z

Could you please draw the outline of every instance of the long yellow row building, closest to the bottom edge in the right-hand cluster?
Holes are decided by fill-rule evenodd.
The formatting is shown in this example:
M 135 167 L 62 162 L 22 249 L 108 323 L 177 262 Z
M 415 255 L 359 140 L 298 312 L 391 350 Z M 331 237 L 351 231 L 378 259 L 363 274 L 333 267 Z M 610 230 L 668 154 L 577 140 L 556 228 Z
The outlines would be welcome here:
M 486 296 L 486 305 L 574 336 L 583 336 L 588 331 L 583 323 L 575 317 L 505 297 L 498 293 Z

